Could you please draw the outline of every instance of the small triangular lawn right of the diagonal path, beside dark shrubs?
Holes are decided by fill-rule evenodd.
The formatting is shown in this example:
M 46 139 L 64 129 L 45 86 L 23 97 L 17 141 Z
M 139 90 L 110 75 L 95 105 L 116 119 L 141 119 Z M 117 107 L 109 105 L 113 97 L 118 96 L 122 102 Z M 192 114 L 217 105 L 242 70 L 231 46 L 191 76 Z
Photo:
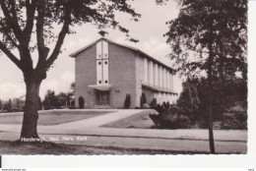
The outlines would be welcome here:
M 139 128 L 139 129 L 149 129 L 155 126 L 154 122 L 149 117 L 150 113 L 156 113 L 155 110 L 147 110 L 140 112 L 136 115 L 129 116 L 124 119 L 103 125 L 102 127 L 110 128 Z

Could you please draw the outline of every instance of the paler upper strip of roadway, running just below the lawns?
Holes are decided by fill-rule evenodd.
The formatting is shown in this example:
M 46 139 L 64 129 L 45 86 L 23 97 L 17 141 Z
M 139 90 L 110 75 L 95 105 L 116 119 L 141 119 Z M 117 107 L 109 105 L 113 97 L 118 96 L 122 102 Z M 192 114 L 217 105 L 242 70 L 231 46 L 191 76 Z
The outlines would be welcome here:
M 0 125 L 2 132 L 20 133 L 21 126 Z M 208 130 L 155 130 L 155 129 L 120 129 L 120 128 L 85 128 L 57 126 L 38 126 L 40 135 L 85 135 L 104 137 L 153 138 L 169 140 L 208 141 Z M 215 130 L 215 140 L 219 142 L 246 142 L 247 131 Z

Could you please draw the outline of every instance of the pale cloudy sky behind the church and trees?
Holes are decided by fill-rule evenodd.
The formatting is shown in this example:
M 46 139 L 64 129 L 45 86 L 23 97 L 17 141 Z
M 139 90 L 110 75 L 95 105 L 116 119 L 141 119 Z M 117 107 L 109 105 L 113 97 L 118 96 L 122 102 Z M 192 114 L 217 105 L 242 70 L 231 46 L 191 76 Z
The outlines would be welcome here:
M 135 0 L 131 5 L 142 15 L 139 22 L 131 21 L 131 18 L 124 14 L 118 13 L 116 17 L 130 30 L 132 37 L 139 39 L 139 42 L 130 42 L 126 40 L 124 33 L 113 29 L 105 29 L 108 31 L 106 38 L 139 48 L 171 66 L 171 61 L 166 57 L 170 47 L 165 43 L 166 37 L 163 37 L 163 34 L 168 30 L 165 22 L 175 19 L 179 13 L 177 4 L 172 0 L 165 5 L 156 5 L 156 0 Z M 40 86 L 41 98 L 44 97 L 47 89 L 52 89 L 56 93 L 70 89 L 71 83 L 75 81 L 75 59 L 69 55 L 100 38 L 97 33 L 99 30 L 89 24 L 72 29 L 76 33 L 66 36 L 62 46 L 63 53 L 54 62 L 46 80 Z M 57 28 L 56 32 L 58 32 Z M 174 79 L 174 88 L 178 92 L 181 91 L 181 80 L 178 77 Z M 0 54 L 0 99 L 20 97 L 25 93 L 26 85 L 22 72 L 4 54 Z

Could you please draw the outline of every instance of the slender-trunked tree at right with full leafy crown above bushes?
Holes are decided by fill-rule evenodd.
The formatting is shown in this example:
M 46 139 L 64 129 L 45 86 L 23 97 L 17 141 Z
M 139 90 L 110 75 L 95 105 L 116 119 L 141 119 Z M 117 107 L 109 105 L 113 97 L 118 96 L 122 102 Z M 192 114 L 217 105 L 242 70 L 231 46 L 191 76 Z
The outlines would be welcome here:
M 213 77 L 242 73 L 247 80 L 247 0 L 180 0 L 180 14 L 165 33 L 171 59 L 186 76 L 207 78 L 209 142 L 213 134 Z

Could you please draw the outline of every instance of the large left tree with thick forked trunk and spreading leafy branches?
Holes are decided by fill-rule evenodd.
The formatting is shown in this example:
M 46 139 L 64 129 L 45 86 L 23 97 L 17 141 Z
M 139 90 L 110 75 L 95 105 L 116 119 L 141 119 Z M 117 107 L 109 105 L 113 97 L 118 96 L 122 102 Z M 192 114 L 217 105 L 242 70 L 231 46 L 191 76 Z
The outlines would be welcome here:
M 133 40 L 129 30 L 123 28 L 115 18 L 116 12 L 121 12 L 138 21 L 140 15 L 127 1 L 0 1 L 0 50 L 22 71 L 27 89 L 21 138 L 38 138 L 39 87 L 61 53 L 66 35 L 74 32 L 72 27 L 93 24 L 100 29 L 118 28 Z M 56 34 L 58 29 L 59 33 Z M 48 44 L 54 48 L 49 49 Z M 38 60 L 34 60 L 34 57 Z M 35 65 L 34 61 L 37 61 Z

